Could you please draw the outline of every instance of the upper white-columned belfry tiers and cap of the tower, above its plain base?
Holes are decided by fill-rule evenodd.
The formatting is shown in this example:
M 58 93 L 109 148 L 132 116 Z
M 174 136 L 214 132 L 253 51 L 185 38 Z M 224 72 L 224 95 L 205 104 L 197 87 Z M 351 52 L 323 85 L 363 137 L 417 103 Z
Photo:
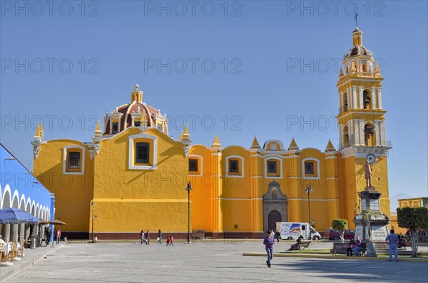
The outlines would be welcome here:
M 387 146 L 382 108 L 382 76 L 373 53 L 362 46 L 362 31 L 352 31 L 352 43 L 337 82 L 340 101 L 340 149 L 352 146 Z

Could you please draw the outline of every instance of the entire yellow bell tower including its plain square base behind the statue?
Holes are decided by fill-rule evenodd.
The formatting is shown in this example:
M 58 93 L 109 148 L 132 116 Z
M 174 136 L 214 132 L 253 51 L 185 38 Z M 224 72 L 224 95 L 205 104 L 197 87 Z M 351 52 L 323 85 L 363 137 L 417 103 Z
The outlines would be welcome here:
M 382 193 L 380 209 L 389 215 L 387 152 L 382 108 L 382 81 L 372 52 L 362 46 L 362 31 L 352 31 L 352 48 L 343 56 L 337 90 L 339 96 L 339 150 L 342 155 L 341 214 L 347 219 L 361 211 L 357 192 L 365 190 L 365 163 L 372 168 L 372 190 Z M 374 65 L 374 66 L 373 66 Z

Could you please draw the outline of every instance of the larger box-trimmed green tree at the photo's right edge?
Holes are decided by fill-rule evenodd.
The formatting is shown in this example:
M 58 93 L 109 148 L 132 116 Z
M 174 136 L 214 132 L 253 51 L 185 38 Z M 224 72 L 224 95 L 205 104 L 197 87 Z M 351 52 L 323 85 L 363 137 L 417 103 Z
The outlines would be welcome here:
M 399 227 L 409 230 L 413 257 L 416 257 L 419 236 L 422 230 L 428 229 L 428 209 L 425 207 L 398 207 L 397 221 Z

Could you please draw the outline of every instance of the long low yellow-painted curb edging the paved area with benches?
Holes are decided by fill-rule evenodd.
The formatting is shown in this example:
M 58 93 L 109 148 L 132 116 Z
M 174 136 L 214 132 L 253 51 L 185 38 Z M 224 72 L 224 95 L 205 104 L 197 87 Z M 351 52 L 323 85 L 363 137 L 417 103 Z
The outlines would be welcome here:
M 265 253 L 261 252 L 244 252 L 244 257 L 266 257 Z M 381 260 L 388 261 L 388 257 L 347 257 L 346 255 L 324 255 L 324 254 L 280 254 L 274 253 L 274 257 L 302 257 L 302 258 L 312 258 L 312 259 L 357 259 L 357 260 Z M 399 257 L 400 262 L 428 262 L 428 258 L 411 258 L 411 257 Z

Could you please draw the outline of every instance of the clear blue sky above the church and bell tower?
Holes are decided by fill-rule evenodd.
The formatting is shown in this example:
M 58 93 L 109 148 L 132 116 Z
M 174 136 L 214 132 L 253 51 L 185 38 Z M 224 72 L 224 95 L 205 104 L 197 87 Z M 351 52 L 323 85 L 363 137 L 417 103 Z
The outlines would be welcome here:
M 188 123 L 193 144 L 337 146 L 357 9 L 384 71 L 389 194 L 428 195 L 427 1 L 189 3 L 1 1 L 1 143 L 31 170 L 39 120 L 46 140 L 88 142 L 138 83 L 174 138 Z

